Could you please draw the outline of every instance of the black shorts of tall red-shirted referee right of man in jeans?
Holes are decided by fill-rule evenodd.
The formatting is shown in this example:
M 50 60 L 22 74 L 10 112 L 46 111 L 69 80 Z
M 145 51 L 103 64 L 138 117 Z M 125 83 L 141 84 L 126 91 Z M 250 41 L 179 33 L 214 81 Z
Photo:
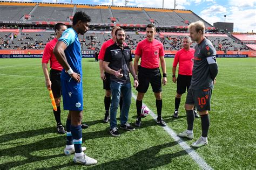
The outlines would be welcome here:
M 159 68 L 151 69 L 139 67 L 138 72 L 139 86 L 136 88 L 138 92 L 146 93 L 149 88 L 149 83 L 151 84 L 154 93 L 162 91 L 161 73 Z

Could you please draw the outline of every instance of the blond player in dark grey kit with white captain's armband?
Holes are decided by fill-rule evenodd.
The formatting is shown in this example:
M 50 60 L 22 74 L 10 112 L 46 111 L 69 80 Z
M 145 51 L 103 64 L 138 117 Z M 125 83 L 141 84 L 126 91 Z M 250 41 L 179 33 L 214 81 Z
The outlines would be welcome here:
M 191 146 L 200 147 L 208 144 L 207 134 L 210 126 L 208 110 L 210 110 L 210 101 L 212 95 L 215 77 L 218 74 L 218 65 L 216 62 L 216 50 L 211 41 L 205 38 L 205 26 L 201 21 L 191 23 L 188 26 L 190 37 L 197 42 L 194 52 L 194 66 L 192 70 L 192 79 L 190 89 L 186 98 L 187 130 L 179 133 L 178 136 L 193 139 L 193 107 L 196 105 L 201 117 L 201 137 Z

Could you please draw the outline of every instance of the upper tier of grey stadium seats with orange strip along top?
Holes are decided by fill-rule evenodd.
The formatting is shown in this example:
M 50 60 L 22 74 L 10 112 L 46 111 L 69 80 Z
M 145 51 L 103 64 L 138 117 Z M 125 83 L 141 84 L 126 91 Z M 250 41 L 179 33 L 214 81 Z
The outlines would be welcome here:
M 28 20 L 26 20 L 27 22 L 46 22 L 41 24 L 49 24 L 50 22 L 70 22 L 70 17 L 72 17 L 76 11 L 84 11 L 87 15 L 91 16 L 92 25 L 106 25 L 112 23 L 146 25 L 150 24 L 151 20 L 153 20 L 158 27 L 185 27 L 196 20 L 203 20 L 190 10 L 2 2 L 0 3 L 0 23 L 1 20 L 24 20 L 24 15 L 29 15 Z M 114 21 L 111 20 L 111 18 L 114 18 Z M 213 26 L 208 24 L 205 20 L 203 20 L 203 22 L 207 27 L 213 28 Z

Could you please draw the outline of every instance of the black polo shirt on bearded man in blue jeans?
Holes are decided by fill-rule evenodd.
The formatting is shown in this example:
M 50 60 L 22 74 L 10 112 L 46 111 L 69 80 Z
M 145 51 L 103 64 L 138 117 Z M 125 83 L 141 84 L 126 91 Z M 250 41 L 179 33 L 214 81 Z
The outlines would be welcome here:
M 124 46 L 120 48 L 116 43 L 106 48 L 104 61 L 109 62 L 109 67 L 113 70 L 122 69 L 123 77 L 118 79 L 113 74 L 110 75 L 110 80 L 118 83 L 130 83 L 129 63 L 132 61 L 131 49 Z

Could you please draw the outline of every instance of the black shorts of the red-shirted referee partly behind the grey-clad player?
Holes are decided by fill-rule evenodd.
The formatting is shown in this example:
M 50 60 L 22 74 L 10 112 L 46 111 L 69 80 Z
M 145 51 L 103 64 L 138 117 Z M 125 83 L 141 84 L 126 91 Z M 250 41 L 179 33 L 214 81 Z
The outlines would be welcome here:
M 178 75 L 177 77 L 177 93 L 182 95 L 186 93 L 186 89 L 190 88 L 192 75 Z

